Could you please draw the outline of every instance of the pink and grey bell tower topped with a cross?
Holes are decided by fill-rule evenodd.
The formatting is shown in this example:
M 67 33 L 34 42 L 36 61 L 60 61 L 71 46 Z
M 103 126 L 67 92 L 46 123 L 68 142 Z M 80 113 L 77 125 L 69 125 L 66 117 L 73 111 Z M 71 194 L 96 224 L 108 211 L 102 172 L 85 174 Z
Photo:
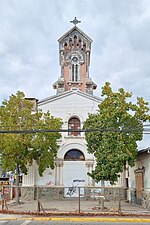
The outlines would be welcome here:
M 61 76 L 53 84 L 53 88 L 57 90 L 57 94 L 72 88 L 93 94 L 93 89 L 97 86 L 89 77 L 92 40 L 76 26 L 81 21 L 75 17 L 70 22 L 74 27 L 58 40 Z

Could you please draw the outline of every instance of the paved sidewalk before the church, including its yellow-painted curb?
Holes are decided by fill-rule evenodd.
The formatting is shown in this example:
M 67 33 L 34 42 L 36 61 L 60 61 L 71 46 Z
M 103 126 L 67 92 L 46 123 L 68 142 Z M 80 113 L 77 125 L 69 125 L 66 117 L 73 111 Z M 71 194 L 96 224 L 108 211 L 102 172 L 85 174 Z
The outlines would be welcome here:
M 8 204 L 8 210 L 0 211 L 0 221 L 68 221 L 68 222 L 141 222 L 150 223 L 150 211 L 139 205 L 121 202 L 114 204 L 108 211 L 102 211 L 98 201 L 81 201 L 80 213 L 78 201 L 44 201 L 41 202 L 44 212 L 37 213 L 37 201 L 26 201 L 16 205 L 13 201 Z M 109 203 L 110 204 L 110 203 Z M 110 205 L 109 205 L 110 206 Z

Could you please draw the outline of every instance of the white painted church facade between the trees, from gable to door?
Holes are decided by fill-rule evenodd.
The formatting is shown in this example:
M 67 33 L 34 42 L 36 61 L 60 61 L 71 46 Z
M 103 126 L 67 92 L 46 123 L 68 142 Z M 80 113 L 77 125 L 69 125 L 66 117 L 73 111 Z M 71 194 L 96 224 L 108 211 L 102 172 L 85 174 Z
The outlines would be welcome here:
M 88 117 L 88 113 L 94 113 L 97 110 L 99 103 L 100 100 L 98 101 L 98 99 L 94 99 L 93 96 L 90 96 L 88 98 L 87 95 L 80 94 L 75 90 L 70 92 L 69 94 L 65 93 L 60 96 L 54 96 L 54 98 L 49 98 L 46 101 L 39 103 L 38 108 L 42 109 L 43 112 L 50 111 L 51 115 L 61 118 L 63 120 L 62 129 L 68 129 L 68 120 L 71 116 L 77 116 L 80 119 L 82 128 L 83 122 Z M 64 155 L 70 149 L 79 149 L 83 152 L 85 160 L 90 160 L 91 164 L 93 163 L 94 157 L 93 155 L 88 154 L 87 152 L 84 133 L 81 133 L 81 136 L 79 137 L 71 137 L 68 136 L 68 133 L 62 133 L 62 139 L 60 141 L 60 148 L 58 151 L 57 158 L 63 161 Z M 73 165 L 73 167 L 71 165 Z M 72 177 L 69 178 L 70 176 Z M 58 177 L 60 179 L 59 181 Z M 84 179 L 87 183 L 88 179 L 85 161 L 71 163 L 64 162 L 62 168 L 57 168 L 56 173 L 55 171 L 47 169 L 44 172 L 43 177 L 40 177 L 36 170 L 35 184 L 47 185 L 50 182 L 51 184 L 58 183 L 64 186 L 70 186 L 72 185 L 74 178 L 80 180 Z

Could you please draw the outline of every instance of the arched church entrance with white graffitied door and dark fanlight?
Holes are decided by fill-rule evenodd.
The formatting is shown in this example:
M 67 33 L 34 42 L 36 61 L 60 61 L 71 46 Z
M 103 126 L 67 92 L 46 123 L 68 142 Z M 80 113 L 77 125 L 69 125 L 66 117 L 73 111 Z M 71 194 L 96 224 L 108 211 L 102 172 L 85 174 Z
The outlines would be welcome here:
M 63 184 L 65 197 L 78 197 L 78 187 L 85 185 L 85 156 L 78 149 L 71 149 L 64 156 Z M 84 189 L 80 190 L 84 195 Z

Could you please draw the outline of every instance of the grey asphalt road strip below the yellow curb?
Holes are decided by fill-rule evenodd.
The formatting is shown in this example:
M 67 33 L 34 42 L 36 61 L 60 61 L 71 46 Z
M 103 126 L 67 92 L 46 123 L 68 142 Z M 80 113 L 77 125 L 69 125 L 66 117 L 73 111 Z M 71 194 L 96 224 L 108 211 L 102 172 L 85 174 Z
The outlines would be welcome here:
M 32 221 L 32 220 L 1 220 L 0 225 L 143 225 L 149 223 L 126 223 L 126 222 L 64 222 L 64 221 Z

